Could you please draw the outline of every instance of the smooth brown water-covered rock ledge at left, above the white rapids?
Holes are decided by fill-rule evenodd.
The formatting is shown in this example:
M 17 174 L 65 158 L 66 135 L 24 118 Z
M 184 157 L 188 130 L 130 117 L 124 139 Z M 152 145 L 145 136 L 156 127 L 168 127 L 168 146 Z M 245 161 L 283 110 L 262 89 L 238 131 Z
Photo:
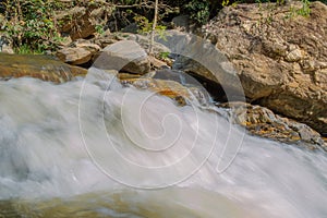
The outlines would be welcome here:
M 62 83 L 87 73 L 85 69 L 46 56 L 0 53 L 0 80 L 29 76 Z

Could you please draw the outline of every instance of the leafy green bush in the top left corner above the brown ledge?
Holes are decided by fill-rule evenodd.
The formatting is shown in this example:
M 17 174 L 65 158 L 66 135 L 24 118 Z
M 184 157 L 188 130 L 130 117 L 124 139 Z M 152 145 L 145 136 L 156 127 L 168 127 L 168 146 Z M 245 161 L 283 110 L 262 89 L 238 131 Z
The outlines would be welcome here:
M 53 10 L 61 7 L 50 0 L 8 0 L 3 31 L 13 39 L 19 52 L 55 50 L 60 34 L 53 21 Z

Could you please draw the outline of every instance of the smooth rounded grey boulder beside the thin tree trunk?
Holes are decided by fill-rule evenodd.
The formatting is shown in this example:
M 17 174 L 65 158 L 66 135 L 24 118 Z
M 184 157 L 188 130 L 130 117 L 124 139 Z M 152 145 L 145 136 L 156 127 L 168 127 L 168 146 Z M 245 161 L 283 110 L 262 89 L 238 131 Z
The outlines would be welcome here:
M 150 70 L 150 62 L 147 53 L 137 43 L 121 40 L 106 47 L 96 59 L 94 66 L 145 74 Z

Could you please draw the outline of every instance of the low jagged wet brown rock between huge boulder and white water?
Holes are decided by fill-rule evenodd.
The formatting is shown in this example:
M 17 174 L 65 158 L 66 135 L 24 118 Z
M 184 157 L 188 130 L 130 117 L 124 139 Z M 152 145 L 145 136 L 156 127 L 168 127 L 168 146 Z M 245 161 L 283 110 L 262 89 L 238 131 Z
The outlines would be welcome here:
M 327 144 L 319 133 L 308 125 L 275 114 L 271 110 L 245 102 L 227 102 L 219 107 L 228 108 L 232 122 L 244 126 L 254 135 L 268 137 L 283 143 L 304 143 L 308 148 L 323 148 Z

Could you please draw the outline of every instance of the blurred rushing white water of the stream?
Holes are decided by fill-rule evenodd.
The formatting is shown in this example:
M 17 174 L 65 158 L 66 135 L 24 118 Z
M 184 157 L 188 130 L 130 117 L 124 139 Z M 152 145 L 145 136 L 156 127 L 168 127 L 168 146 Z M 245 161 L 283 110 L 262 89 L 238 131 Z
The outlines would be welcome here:
M 216 112 L 148 92 L 86 86 L 81 105 L 82 81 L 0 82 L 4 217 L 327 217 L 325 154 L 243 137 Z M 242 146 L 218 172 L 228 142 Z

